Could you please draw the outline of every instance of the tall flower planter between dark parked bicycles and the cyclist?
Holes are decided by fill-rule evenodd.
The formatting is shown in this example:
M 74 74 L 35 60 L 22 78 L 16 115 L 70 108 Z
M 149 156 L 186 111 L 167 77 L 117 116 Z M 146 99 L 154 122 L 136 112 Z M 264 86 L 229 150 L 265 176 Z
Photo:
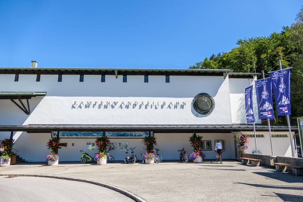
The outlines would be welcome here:
M 194 163 L 202 163 L 205 158 L 205 153 L 200 151 L 202 148 L 202 138 L 202 136 L 196 135 L 196 133 L 193 133 L 189 138 L 190 146 L 194 149 L 194 152 L 190 155 Z

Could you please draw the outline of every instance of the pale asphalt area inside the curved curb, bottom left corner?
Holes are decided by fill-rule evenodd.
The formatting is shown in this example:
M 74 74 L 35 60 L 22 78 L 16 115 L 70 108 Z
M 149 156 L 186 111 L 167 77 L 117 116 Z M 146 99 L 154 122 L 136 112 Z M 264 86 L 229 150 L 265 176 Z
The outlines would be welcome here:
M 45 177 L 0 176 L 1 201 L 134 201 L 94 184 Z

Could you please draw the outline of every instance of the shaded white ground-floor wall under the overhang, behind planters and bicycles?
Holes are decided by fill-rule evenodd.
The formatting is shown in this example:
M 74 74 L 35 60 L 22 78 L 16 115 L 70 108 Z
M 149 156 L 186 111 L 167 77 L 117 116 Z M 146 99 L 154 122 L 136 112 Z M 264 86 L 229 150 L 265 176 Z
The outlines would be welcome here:
M 234 157 L 234 143 L 232 142 L 231 133 L 197 133 L 203 136 L 203 140 L 211 140 L 211 150 L 203 151 L 206 154 L 206 159 L 215 159 L 216 153 L 215 140 L 225 141 L 225 151 L 223 151 L 223 158 L 231 159 Z M 179 154 L 177 150 L 183 147 L 187 150 L 188 156 L 193 152 L 189 137 L 192 133 L 155 133 L 157 138 L 159 154 L 164 160 L 178 160 Z M 50 133 L 22 133 L 18 141 L 16 141 L 14 148 L 19 151 L 23 159 L 27 161 L 41 162 L 45 161 L 45 157 L 50 154 L 47 149 L 47 142 L 51 138 Z M 141 154 L 146 152 L 143 149 L 142 138 L 110 138 L 111 142 L 128 142 L 128 148 L 136 147 L 135 152 L 140 160 Z M 67 147 L 59 149 L 58 154 L 61 161 L 80 161 L 80 150 L 87 152 L 92 157 L 98 151 L 85 151 L 87 142 L 95 142 L 94 138 L 62 138 L 61 143 L 67 143 Z M 74 146 L 72 146 L 74 143 Z M 110 154 L 115 160 L 124 160 L 125 151 L 110 151 Z

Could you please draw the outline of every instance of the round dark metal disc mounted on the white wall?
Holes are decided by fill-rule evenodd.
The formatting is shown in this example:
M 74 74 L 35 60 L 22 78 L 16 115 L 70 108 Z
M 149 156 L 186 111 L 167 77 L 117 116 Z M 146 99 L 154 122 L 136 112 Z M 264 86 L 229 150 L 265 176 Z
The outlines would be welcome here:
M 215 108 L 215 100 L 207 93 L 200 93 L 193 100 L 193 107 L 199 114 L 210 114 Z

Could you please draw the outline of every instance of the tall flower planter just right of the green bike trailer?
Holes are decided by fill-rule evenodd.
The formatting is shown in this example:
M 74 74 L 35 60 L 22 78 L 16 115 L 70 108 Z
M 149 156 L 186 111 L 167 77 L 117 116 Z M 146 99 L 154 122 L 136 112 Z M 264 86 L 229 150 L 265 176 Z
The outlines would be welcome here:
M 98 165 L 104 165 L 106 164 L 106 157 L 107 157 L 106 150 L 111 142 L 106 136 L 97 137 L 95 142 L 96 145 L 98 146 L 99 153 L 96 154 L 94 158 L 95 160 L 97 160 Z

